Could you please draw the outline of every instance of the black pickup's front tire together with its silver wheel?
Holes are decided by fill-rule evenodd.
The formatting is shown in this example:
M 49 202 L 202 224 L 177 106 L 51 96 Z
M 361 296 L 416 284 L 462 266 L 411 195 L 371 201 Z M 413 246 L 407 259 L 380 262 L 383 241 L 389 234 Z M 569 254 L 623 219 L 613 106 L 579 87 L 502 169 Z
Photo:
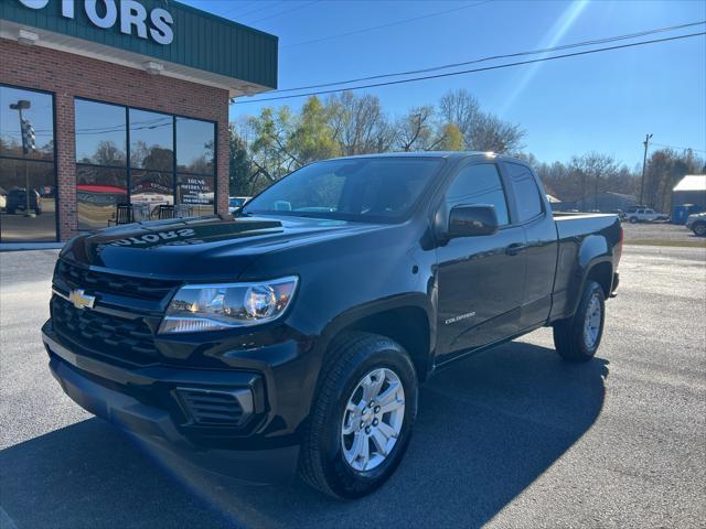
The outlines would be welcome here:
M 418 382 L 407 352 L 385 336 L 345 333 L 327 353 L 299 456 L 299 475 L 338 498 L 372 493 L 407 450 Z

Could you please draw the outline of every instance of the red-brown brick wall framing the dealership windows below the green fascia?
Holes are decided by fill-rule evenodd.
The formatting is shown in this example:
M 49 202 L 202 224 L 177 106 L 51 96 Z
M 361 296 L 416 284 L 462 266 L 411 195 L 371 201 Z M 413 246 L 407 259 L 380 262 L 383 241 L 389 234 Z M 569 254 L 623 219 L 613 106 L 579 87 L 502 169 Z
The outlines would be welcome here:
M 179 114 L 217 122 L 217 203 L 228 208 L 228 93 L 140 69 L 0 39 L 0 83 L 54 93 L 58 233 L 76 233 L 74 97 Z

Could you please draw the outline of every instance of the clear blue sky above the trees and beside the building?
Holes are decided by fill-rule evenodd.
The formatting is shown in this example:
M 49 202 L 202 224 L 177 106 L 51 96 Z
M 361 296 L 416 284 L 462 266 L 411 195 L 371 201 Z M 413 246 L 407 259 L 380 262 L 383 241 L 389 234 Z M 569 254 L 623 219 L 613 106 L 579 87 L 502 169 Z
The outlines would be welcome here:
M 280 88 L 706 20 L 706 2 L 700 0 L 188 3 L 278 35 Z M 417 17 L 425 18 L 301 44 Z M 655 143 L 706 151 L 704 36 L 366 91 L 378 96 L 385 110 L 395 117 L 414 106 L 437 104 L 446 91 L 456 88 L 469 89 L 485 110 L 520 123 L 527 131 L 525 150 L 539 160 L 566 161 L 573 154 L 596 150 L 633 166 L 642 161 L 642 141 L 648 132 L 654 134 Z M 257 114 L 265 105 L 297 108 L 302 101 L 234 105 L 231 118 Z

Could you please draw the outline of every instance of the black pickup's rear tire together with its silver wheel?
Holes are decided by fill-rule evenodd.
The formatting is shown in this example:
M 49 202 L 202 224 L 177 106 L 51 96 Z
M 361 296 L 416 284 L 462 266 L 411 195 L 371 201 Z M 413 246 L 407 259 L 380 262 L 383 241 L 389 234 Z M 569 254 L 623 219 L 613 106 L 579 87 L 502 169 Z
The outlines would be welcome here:
M 568 361 L 588 361 L 596 355 L 603 335 L 606 296 L 596 281 L 587 281 L 573 317 L 554 324 L 556 352 Z

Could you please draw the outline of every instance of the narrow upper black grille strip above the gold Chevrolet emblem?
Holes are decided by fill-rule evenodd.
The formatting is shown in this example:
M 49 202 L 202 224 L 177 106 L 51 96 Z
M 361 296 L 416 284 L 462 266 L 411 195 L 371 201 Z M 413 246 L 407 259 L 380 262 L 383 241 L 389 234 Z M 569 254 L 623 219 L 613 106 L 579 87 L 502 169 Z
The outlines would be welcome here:
M 161 301 L 178 285 L 174 281 L 98 272 L 64 260 L 56 264 L 56 278 L 69 289 L 84 289 L 92 293 L 101 292 L 146 301 Z

